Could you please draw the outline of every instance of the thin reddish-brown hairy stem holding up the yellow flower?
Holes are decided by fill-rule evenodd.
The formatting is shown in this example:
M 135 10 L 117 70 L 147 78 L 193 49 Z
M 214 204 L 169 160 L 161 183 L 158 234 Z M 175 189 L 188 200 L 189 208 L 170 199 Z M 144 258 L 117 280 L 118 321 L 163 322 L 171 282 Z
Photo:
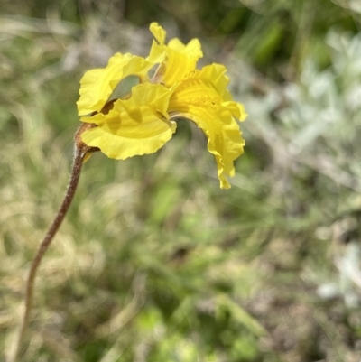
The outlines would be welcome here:
M 80 130 L 79 130 L 80 131 Z M 86 154 L 88 152 L 97 151 L 95 149 L 92 149 L 88 147 L 86 144 L 83 144 L 79 142 L 79 132 L 76 135 L 75 138 L 75 151 L 74 151 L 74 160 L 72 165 L 72 171 L 70 176 L 70 181 L 68 185 L 68 190 L 65 195 L 64 200 L 62 201 L 62 204 L 60 206 L 60 209 L 54 218 L 54 221 L 51 224 L 51 227 L 49 228 L 48 233 L 42 240 L 42 244 L 39 246 L 38 252 L 35 255 L 35 257 L 32 259 L 32 265 L 30 268 L 28 280 L 26 282 L 26 296 L 25 296 L 25 311 L 23 313 L 23 319 L 21 322 L 21 326 L 19 329 L 19 333 L 17 335 L 17 339 L 14 343 L 14 348 L 12 350 L 11 356 L 9 358 L 9 362 L 16 362 L 18 361 L 20 349 L 23 345 L 23 339 L 26 334 L 26 330 L 28 328 L 29 320 L 30 320 L 30 313 L 32 311 L 32 302 L 33 302 L 33 289 L 34 289 L 34 283 L 37 271 L 39 269 L 39 266 L 42 262 L 42 257 L 45 255 L 48 247 L 51 245 L 51 241 L 56 235 L 63 219 L 65 218 L 71 201 L 74 199 L 75 191 L 77 190 L 79 177 L 81 168 L 84 162 L 84 159 L 86 159 Z

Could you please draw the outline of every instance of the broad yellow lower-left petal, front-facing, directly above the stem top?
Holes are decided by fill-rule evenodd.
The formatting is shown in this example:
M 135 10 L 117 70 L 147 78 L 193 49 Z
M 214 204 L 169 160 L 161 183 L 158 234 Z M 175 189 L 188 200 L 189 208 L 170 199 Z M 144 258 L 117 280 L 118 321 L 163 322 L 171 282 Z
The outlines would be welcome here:
M 171 91 L 160 84 L 139 84 L 127 100 L 118 99 L 107 113 L 83 117 L 98 126 L 81 135 L 85 144 L 108 157 L 124 160 L 154 153 L 171 139 L 176 125 L 167 119 Z

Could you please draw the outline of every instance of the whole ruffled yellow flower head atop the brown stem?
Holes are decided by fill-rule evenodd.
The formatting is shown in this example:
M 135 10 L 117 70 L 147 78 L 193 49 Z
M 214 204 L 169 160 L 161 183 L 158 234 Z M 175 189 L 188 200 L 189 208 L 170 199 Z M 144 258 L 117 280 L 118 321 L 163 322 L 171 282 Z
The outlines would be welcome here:
M 89 70 L 81 79 L 79 116 L 96 125 L 81 139 L 110 158 L 125 159 L 156 152 L 171 139 L 174 121 L 187 118 L 207 136 L 220 187 L 228 189 L 227 176 L 234 176 L 234 161 L 245 145 L 236 119 L 243 121 L 246 115 L 227 90 L 227 70 L 215 63 L 197 70 L 202 57 L 198 39 L 183 44 L 174 38 L 166 45 L 162 27 L 152 23 L 150 29 L 155 41 L 146 59 L 116 53 L 106 68 Z M 117 84 L 130 75 L 139 84 L 124 98 L 112 99 Z

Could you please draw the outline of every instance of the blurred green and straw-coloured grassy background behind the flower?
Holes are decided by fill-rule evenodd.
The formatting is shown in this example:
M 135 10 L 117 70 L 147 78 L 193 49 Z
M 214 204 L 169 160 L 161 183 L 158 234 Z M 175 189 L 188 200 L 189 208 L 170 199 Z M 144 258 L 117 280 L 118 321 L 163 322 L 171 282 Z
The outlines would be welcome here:
M 0 360 L 64 196 L 84 71 L 149 23 L 227 65 L 245 154 L 220 190 L 197 127 L 94 154 L 42 261 L 22 362 L 361 360 L 361 2 L 0 4 Z

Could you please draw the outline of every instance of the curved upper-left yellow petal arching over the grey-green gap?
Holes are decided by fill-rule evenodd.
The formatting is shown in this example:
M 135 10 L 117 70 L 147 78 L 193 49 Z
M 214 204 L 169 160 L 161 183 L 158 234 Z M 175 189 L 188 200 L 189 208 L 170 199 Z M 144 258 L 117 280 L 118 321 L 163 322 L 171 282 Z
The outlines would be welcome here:
M 147 79 L 147 72 L 153 67 L 149 61 L 129 53 L 116 53 L 106 68 L 88 70 L 80 80 L 80 98 L 77 102 L 79 116 L 99 112 L 105 105 L 120 80 L 130 75 Z

